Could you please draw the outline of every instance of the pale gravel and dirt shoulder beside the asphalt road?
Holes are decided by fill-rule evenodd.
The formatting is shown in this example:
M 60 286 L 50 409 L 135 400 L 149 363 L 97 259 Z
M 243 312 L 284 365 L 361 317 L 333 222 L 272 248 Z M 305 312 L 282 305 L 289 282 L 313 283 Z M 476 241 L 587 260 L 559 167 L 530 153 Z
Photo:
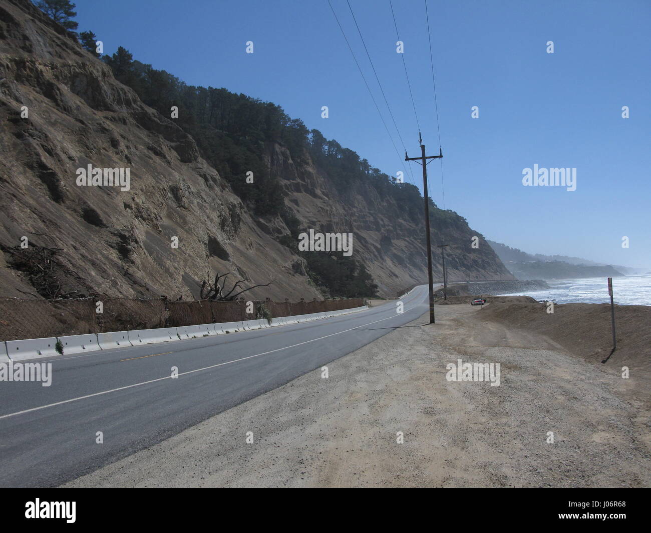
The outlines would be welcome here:
M 327 379 L 315 370 L 64 486 L 651 485 L 646 382 L 482 312 L 437 306 L 436 325 L 393 329 Z M 499 363 L 499 387 L 447 381 L 458 359 Z

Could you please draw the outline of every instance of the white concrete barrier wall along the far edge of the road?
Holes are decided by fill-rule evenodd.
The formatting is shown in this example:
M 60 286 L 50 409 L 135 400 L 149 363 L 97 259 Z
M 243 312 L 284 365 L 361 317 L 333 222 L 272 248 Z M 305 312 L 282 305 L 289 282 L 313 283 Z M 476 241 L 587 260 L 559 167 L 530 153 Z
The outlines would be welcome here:
M 261 320 L 244 320 L 194 326 L 135 329 L 131 331 L 113 331 L 109 333 L 89 333 L 87 335 L 7 340 L 1 342 L 3 350 L 0 351 L 0 362 L 37 359 L 39 357 L 53 357 L 55 355 L 62 355 L 62 353 L 67 355 L 70 353 L 102 351 L 105 349 L 125 348 L 129 346 L 144 346 L 146 344 L 174 342 L 176 340 L 224 335 L 240 331 L 253 331 L 267 327 L 293 325 L 312 320 L 332 318 L 342 314 L 350 314 L 367 309 L 368 306 L 364 305 L 362 307 L 336 311 L 300 314 L 296 316 L 281 316 L 273 318 L 271 321 L 263 318 Z M 57 351 L 57 344 L 59 343 L 61 343 L 60 348 L 62 349 L 62 353 Z

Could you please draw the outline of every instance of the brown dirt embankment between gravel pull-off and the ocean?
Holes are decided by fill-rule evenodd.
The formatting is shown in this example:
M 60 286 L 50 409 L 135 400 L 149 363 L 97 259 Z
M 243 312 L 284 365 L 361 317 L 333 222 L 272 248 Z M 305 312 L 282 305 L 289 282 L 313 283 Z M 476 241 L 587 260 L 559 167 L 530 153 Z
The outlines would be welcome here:
M 489 297 L 490 298 L 490 297 Z M 482 318 L 527 329 L 551 338 L 586 361 L 601 363 L 613 348 L 611 308 L 607 303 L 566 303 L 547 312 L 545 303 L 528 297 L 493 297 Z M 617 349 L 607 364 L 628 366 L 651 376 L 651 307 L 616 305 Z

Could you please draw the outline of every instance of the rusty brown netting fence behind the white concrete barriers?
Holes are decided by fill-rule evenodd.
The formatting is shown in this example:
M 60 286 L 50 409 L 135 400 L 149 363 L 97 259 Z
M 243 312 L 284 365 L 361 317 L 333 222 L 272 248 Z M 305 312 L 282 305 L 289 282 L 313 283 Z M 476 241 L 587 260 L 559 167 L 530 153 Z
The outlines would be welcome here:
M 98 310 L 102 302 L 102 312 Z M 274 302 L 165 301 L 163 299 L 0 299 L 0 340 L 20 340 L 108 331 L 181 327 L 255 320 L 262 308 L 273 317 L 294 316 L 364 305 L 363 298 Z M 253 313 L 247 313 L 253 310 Z

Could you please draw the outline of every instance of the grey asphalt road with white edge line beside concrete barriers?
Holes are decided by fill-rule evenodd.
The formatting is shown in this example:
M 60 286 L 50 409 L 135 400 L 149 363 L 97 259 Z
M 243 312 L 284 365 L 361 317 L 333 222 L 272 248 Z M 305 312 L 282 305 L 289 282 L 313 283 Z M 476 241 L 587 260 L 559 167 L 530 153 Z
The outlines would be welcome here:
M 415 320 L 426 300 L 419 286 L 402 314 L 389 302 L 270 329 L 33 359 L 52 363 L 50 387 L 0 382 L 0 486 L 54 487 L 159 443 Z

